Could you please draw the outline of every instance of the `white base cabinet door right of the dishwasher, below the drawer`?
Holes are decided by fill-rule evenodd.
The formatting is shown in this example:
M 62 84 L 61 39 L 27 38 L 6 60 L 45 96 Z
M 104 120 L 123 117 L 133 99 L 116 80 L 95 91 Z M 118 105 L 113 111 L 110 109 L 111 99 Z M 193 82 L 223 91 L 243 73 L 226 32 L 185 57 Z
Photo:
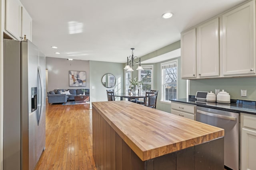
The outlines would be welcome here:
M 242 128 L 241 170 L 256 170 L 256 131 Z

